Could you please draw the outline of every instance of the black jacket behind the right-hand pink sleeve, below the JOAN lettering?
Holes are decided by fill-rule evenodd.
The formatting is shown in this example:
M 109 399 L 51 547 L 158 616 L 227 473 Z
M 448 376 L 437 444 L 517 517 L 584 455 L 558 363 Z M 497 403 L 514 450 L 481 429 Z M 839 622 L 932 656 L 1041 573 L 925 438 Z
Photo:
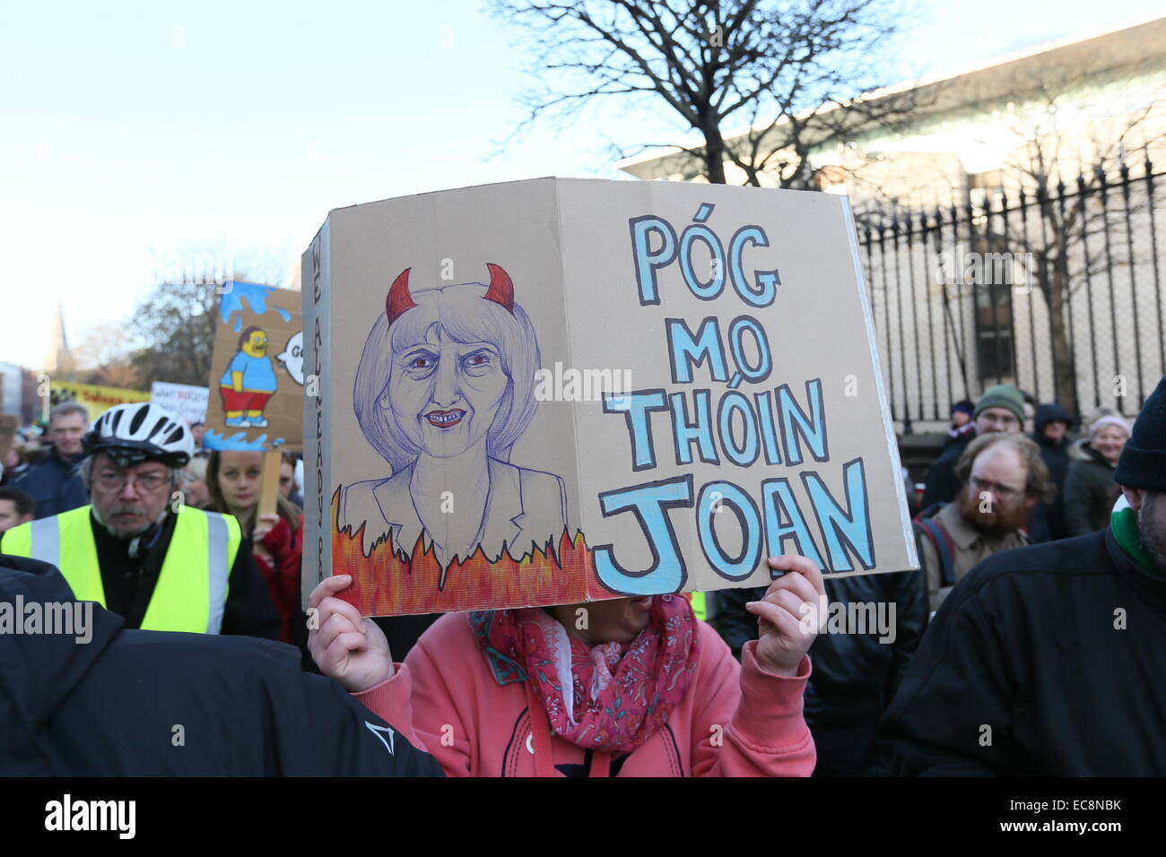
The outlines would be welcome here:
M 714 625 L 732 649 L 757 639 L 757 617 L 745 603 L 760 600 L 765 588 L 717 592 Z M 894 697 L 927 627 L 927 583 L 921 571 L 827 577 L 826 596 L 838 604 L 894 603 L 894 640 L 879 633 L 822 633 L 810 646 L 813 674 L 806 683 L 805 715 L 810 729 L 874 724 Z M 887 613 L 888 616 L 888 613 Z

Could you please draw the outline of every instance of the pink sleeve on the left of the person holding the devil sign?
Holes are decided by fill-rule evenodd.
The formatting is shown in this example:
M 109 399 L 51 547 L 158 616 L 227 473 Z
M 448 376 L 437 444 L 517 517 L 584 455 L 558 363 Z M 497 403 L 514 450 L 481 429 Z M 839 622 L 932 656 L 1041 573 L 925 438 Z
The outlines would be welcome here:
M 470 731 L 423 639 L 396 669 L 392 679 L 353 696 L 402 732 L 413 746 L 433 756 L 447 777 L 472 777 Z M 394 684 L 402 674 L 403 690 Z M 400 716 L 399 722 L 408 728 L 398 725 L 391 715 Z

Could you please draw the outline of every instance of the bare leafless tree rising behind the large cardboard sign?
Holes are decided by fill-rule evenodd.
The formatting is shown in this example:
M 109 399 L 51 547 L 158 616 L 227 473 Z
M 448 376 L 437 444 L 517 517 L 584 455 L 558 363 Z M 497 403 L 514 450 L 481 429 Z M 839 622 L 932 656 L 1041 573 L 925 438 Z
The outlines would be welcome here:
M 909 97 L 848 100 L 883 83 L 870 70 L 897 31 L 891 2 L 492 0 L 496 16 L 528 31 L 540 80 L 520 99 L 527 117 L 508 140 L 599 97 L 659 99 L 703 136 L 703 146 L 677 146 L 687 153 L 679 160 L 700 162 L 708 181 L 725 182 L 728 162 L 750 184 L 765 175 L 808 187 L 817 147 L 915 108 Z M 747 129 L 726 140 L 724 125 L 744 115 Z

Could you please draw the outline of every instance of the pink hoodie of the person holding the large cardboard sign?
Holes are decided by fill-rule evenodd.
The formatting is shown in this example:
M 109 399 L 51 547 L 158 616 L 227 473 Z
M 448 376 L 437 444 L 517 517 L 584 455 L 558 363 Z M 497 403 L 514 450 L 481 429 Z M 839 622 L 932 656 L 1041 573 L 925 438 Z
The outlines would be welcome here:
M 450 777 L 808 777 L 809 658 L 796 676 L 773 675 L 758 667 L 756 640 L 738 665 L 716 631 L 697 625 L 694 686 L 668 724 L 619 760 L 553 735 L 546 712 L 528 704 L 527 682 L 499 686 L 465 613 L 443 616 L 392 679 L 353 696 Z

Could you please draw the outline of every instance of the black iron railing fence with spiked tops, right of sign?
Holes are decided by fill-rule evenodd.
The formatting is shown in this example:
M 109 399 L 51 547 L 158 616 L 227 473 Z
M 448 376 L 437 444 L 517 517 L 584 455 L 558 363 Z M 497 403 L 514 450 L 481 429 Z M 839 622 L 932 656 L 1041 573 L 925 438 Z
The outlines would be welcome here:
M 1083 416 L 1137 414 L 1166 373 L 1166 174 L 1149 155 L 1136 168 L 856 212 L 897 428 L 934 430 L 1000 382 Z

